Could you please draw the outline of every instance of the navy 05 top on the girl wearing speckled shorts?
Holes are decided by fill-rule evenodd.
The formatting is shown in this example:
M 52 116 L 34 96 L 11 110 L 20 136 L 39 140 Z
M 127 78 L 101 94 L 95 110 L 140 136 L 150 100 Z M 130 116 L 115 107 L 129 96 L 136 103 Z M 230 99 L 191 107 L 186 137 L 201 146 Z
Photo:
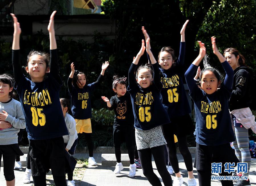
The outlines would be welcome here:
M 170 119 L 160 100 L 162 83 L 157 63 L 153 64 L 153 82 L 148 88 L 141 88 L 135 79 L 137 65 L 132 63 L 128 80 L 128 92 L 131 94 L 132 109 L 134 114 L 134 127 L 149 130 L 169 123 Z

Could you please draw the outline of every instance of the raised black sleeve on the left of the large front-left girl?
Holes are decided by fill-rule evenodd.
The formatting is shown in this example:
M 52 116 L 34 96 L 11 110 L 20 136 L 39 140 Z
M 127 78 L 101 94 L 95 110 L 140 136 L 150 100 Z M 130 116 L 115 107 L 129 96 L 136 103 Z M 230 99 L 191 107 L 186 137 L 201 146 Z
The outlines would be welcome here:
M 12 63 L 14 79 L 16 84 L 18 84 L 23 75 L 20 59 L 20 50 L 12 50 Z

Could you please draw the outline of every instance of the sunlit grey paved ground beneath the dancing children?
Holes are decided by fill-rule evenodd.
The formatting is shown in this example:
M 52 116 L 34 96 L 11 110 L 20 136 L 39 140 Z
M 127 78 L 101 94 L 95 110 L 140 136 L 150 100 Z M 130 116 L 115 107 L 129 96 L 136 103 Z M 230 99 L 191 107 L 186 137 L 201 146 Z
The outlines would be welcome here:
M 75 154 L 76 158 L 88 158 L 88 154 Z M 114 167 L 108 167 L 108 166 L 101 166 L 101 154 L 94 154 L 95 160 L 97 161 L 97 166 L 89 166 L 84 173 L 84 177 L 81 181 L 81 183 L 76 184 L 79 186 L 146 186 L 150 185 L 146 177 L 143 175 L 141 169 L 136 170 L 136 177 L 130 178 L 128 177 L 129 173 L 129 167 L 124 167 L 124 170 L 120 174 L 114 174 Z M 192 157 L 194 157 L 194 154 L 192 154 Z M 185 163 L 183 162 L 181 154 L 178 154 L 178 160 L 179 160 L 179 167 L 180 171 L 184 177 L 184 185 L 187 185 L 187 171 L 185 167 Z M 153 161 L 153 158 L 152 158 Z M 160 178 L 160 175 L 158 174 L 155 166 L 155 162 L 152 162 L 153 169 L 156 175 Z M 0 172 L 0 185 L 5 185 L 5 179 L 3 175 L 3 168 L 1 168 Z M 194 176 L 197 179 L 197 172 L 194 169 Z M 24 184 L 22 183 L 22 179 L 25 172 L 25 167 L 22 167 L 20 170 L 15 170 L 15 178 L 16 178 L 16 184 L 19 186 L 32 186 L 32 182 L 30 184 Z M 174 175 L 174 174 L 173 174 Z M 174 176 L 172 175 L 172 179 L 174 179 Z M 249 179 L 251 181 L 251 185 L 256 185 L 256 160 L 252 160 L 251 169 L 249 173 Z M 161 178 L 160 178 L 161 180 Z M 76 180 L 75 180 L 76 181 Z M 163 185 L 163 184 L 162 184 Z M 221 185 L 220 181 L 212 181 L 212 186 L 215 185 Z

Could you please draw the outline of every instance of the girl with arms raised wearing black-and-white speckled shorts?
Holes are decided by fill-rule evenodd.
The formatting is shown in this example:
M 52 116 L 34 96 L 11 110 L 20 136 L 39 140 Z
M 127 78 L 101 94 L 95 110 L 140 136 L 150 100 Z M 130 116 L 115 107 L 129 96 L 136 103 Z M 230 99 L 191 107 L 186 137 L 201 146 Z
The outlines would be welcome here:
M 142 31 L 146 39 L 147 53 L 152 66 L 151 64 L 141 65 L 136 71 L 139 59 L 144 54 L 146 48 L 144 40 L 142 40 L 141 49 L 129 69 L 129 86 L 127 88 L 131 94 L 135 117 L 136 145 L 143 174 L 149 183 L 153 186 L 161 185 L 159 178 L 153 172 L 151 160 L 153 154 L 157 171 L 164 185 L 169 186 L 172 185 L 172 179 L 165 165 L 164 145 L 166 141 L 160 125 L 169 123 L 170 120 L 160 100 L 162 83 L 160 82 L 157 62 L 151 52 L 150 39 L 144 27 Z

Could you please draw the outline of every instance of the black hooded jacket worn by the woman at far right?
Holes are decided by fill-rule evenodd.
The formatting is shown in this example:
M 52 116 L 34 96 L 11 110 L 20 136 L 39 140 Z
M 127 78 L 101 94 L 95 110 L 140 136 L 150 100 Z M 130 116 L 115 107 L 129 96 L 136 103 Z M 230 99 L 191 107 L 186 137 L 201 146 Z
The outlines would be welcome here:
M 251 86 L 253 85 L 253 70 L 240 66 L 234 70 L 232 95 L 229 99 L 230 111 L 249 107 L 252 102 Z

